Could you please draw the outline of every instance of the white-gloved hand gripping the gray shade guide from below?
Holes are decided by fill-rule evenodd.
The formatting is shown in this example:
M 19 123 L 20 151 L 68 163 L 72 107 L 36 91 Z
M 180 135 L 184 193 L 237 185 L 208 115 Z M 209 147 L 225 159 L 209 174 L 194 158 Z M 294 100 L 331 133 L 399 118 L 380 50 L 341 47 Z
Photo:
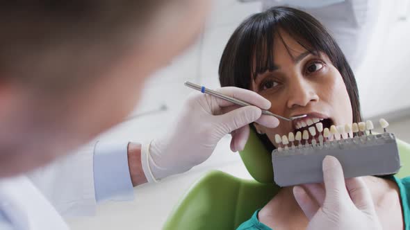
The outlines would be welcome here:
M 307 229 L 382 229 L 363 180 L 345 179 L 335 157 L 325 157 L 322 168 L 325 188 L 320 184 L 293 188 L 297 203 L 310 220 Z

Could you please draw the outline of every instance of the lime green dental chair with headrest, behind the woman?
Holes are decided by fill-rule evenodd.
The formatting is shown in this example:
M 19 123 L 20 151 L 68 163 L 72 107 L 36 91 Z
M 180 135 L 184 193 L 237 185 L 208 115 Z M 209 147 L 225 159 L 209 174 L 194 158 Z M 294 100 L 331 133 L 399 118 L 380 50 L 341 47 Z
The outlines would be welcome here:
M 410 175 L 410 145 L 397 139 L 402 168 L 397 177 Z M 213 170 L 191 186 L 168 217 L 165 230 L 236 229 L 279 191 L 274 184 L 271 155 L 251 130 L 240 157 L 255 180 L 240 179 Z

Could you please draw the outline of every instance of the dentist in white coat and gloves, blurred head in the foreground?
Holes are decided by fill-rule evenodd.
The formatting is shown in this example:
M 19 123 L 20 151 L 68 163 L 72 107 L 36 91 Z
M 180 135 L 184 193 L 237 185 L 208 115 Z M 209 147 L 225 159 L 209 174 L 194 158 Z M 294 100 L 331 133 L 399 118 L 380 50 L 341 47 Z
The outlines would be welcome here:
M 205 161 L 225 134 L 236 151 L 246 143 L 247 124 L 279 123 L 261 116 L 268 100 L 227 87 L 219 90 L 257 107 L 192 94 L 162 139 L 97 142 L 74 151 L 131 112 L 147 77 L 195 39 L 208 8 L 208 1 L 189 0 L 3 3 L 1 230 L 68 229 L 61 215 L 93 213 L 97 202 L 113 197 L 130 199 L 133 186 Z

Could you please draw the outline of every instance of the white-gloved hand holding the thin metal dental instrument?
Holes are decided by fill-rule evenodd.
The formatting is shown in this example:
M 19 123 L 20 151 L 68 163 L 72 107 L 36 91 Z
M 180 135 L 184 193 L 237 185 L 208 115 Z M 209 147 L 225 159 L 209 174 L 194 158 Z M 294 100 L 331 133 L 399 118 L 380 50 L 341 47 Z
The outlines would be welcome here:
M 223 87 L 216 91 L 256 107 L 238 107 L 199 92 L 190 94 L 175 122 L 176 127 L 165 138 L 151 141 L 147 161 L 155 179 L 186 172 L 204 162 L 218 141 L 229 133 L 232 135 L 231 150 L 243 150 L 249 136 L 249 123 L 257 122 L 266 127 L 279 125 L 277 118 L 261 116 L 261 109 L 269 109 L 270 101 L 254 91 L 237 87 Z

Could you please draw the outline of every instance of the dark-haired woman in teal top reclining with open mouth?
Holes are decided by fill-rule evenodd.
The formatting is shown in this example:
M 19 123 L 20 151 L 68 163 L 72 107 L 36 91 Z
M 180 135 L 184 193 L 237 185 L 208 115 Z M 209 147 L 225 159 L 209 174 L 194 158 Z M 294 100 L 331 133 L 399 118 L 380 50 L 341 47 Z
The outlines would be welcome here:
M 274 114 L 308 114 L 293 123 L 281 121 L 274 129 L 254 124 L 270 150 L 275 134 L 306 130 L 320 119 L 324 127 L 361 120 L 356 80 L 345 56 L 325 28 L 300 10 L 277 7 L 246 19 L 225 47 L 219 73 L 222 87 L 256 91 L 270 100 Z M 384 229 L 407 229 L 410 179 L 363 180 Z M 309 221 L 292 191 L 281 188 L 238 229 L 305 229 Z

